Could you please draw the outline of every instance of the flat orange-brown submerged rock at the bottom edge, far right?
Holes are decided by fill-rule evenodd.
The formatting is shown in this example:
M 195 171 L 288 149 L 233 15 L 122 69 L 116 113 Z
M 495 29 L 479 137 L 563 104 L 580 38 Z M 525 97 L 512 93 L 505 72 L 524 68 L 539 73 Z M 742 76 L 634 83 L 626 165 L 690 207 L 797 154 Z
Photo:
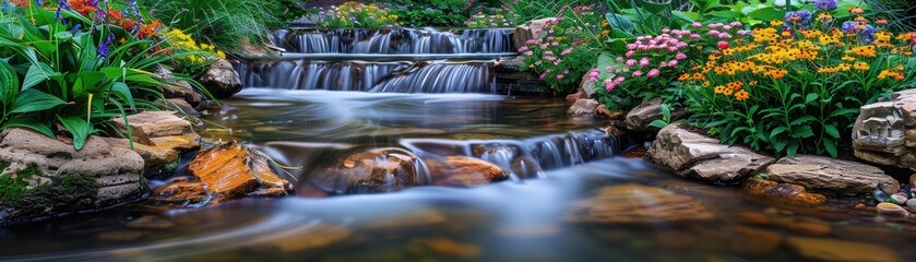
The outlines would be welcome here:
M 789 237 L 786 245 L 802 258 L 818 261 L 899 261 L 896 251 L 878 245 L 825 238 Z

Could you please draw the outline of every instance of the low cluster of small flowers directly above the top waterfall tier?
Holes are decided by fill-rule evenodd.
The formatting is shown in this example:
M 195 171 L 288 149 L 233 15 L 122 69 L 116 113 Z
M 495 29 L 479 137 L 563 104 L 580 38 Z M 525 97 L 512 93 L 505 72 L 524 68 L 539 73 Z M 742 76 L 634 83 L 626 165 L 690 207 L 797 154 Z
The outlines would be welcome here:
M 381 28 L 401 25 L 397 15 L 376 4 L 346 2 L 341 7 L 322 9 L 318 13 L 318 25 L 324 28 Z

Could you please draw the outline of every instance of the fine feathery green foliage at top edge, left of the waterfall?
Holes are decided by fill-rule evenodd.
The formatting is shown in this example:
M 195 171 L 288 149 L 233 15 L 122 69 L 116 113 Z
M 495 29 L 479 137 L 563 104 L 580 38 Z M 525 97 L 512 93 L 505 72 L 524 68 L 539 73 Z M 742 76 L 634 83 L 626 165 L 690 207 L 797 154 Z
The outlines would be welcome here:
M 217 49 L 240 52 L 245 44 L 270 41 L 267 29 L 282 25 L 281 7 L 276 0 L 160 0 L 153 16 Z

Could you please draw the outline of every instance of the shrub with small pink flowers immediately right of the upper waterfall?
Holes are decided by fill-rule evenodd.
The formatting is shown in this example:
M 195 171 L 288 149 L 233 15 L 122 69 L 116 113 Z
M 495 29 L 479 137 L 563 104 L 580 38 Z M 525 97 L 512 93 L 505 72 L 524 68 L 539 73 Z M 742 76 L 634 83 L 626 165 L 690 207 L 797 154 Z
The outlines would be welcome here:
M 582 75 L 591 70 L 609 32 L 603 12 L 595 5 L 576 5 L 544 25 L 540 38 L 519 49 L 525 67 L 540 74 L 557 93 L 574 91 Z

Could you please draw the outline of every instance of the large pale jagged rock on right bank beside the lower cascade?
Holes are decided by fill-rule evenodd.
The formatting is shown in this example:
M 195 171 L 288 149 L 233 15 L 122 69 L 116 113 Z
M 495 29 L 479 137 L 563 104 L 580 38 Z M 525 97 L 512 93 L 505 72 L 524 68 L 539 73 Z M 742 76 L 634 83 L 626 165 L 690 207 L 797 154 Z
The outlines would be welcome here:
M 717 139 L 668 124 L 658 132 L 645 159 L 682 177 L 712 183 L 737 183 L 775 158 L 743 146 L 728 146 Z

